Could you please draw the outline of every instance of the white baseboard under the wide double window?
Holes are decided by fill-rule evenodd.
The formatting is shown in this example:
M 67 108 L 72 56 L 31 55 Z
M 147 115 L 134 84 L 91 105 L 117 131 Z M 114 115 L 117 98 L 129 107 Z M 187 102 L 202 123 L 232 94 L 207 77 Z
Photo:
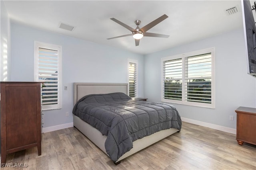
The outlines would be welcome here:
M 188 118 L 185 118 L 185 117 L 181 117 L 181 120 L 184 121 L 184 122 L 195 124 L 195 125 L 200 125 L 200 126 L 204 126 L 204 127 L 209 127 L 211 129 L 216 129 L 216 130 L 219 130 L 219 131 L 224 131 L 224 132 L 236 134 L 236 129 L 232 129 L 230 127 L 214 125 L 214 124 L 211 124 L 211 123 L 206 123 L 206 122 L 203 122 L 203 121 L 188 119 Z

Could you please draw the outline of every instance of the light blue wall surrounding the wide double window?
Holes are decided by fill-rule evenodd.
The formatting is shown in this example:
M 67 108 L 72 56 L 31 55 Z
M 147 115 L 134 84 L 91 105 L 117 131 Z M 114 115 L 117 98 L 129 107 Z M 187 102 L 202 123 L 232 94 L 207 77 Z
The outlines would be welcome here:
M 235 109 L 256 107 L 256 78 L 247 74 L 243 29 L 144 57 L 144 96 L 161 101 L 161 58 L 215 47 L 216 108 L 173 104 L 182 117 L 236 129 Z M 229 116 L 234 116 L 234 121 Z

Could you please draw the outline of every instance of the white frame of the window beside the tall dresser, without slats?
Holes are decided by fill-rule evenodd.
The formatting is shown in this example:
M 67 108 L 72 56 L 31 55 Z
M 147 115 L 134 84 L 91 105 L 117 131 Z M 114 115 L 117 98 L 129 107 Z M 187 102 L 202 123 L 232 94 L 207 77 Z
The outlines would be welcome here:
M 34 81 L 44 82 L 39 80 L 39 48 L 58 51 L 58 104 L 42 105 L 42 110 L 54 110 L 62 108 L 62 46 L 49 43 L 34 41 Z

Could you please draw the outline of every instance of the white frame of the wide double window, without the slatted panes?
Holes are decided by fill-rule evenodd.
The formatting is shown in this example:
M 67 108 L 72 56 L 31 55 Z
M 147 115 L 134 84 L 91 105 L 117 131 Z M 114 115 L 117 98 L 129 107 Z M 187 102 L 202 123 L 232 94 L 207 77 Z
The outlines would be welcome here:
M 185 86 L 186 86 L 185 58 L 196 56 L 196 55 L 203 55 L 206 53 L 211 53 L 211 104 L 186 101 L 185 99 Z M 164 62 L 169 60 L 175 60 L 175 59 L 182 59 L 182 100 L 180 101 L 164 98 Z M 161 58 L 161 102 L 182 104 L 187 106 L 206 107 L 206 108 L 212 108 L 212 109 L 215 108 L 215 47 Z

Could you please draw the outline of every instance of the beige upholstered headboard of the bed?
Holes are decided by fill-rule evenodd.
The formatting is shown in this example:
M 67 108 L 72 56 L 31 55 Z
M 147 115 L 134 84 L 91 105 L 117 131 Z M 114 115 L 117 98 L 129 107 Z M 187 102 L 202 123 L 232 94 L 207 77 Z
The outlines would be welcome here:
M 127 83 L 74 83 L 74 105 L 89 94 L 107 94 L 122 92 L 128 94 Z

